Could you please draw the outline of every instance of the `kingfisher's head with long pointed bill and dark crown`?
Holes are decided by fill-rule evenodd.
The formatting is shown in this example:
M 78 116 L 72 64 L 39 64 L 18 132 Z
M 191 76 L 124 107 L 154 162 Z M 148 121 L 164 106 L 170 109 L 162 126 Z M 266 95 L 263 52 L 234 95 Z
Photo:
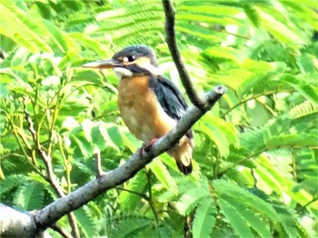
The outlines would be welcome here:
M 112 68 L 122 77 L 136 74 L 160 74 L 154 51 L 145 45 L 131 45 L 114 54 L 110 60 L 91 62 L 85 68 Z

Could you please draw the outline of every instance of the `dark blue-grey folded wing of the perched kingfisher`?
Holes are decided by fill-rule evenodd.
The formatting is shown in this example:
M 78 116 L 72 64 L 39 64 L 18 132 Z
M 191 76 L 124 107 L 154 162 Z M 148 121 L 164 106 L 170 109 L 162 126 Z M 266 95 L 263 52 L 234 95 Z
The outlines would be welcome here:
M 178 121 L 188 107 L 184 95 L 181 94 L 172 81 L 161 75 L 151 75 L 149 78 L 149 86 L 154 91 L 164 112 Z M 186 135 L 192 139 L 192 130 L 190 129 Z

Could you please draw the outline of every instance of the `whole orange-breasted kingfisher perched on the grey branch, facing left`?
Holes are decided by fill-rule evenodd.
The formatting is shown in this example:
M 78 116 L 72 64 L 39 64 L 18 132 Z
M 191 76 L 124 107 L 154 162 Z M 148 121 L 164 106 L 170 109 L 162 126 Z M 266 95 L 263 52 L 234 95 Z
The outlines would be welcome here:
M 91 62 L 87 68 L 113 69 L 120 78 L 118 108 L 124 124 L 144 144 L 170 132 L 188 105 L 175 84 L 160 73 L 154 50 L 131 45 L 109 60 Z M 190 129 L 167 154 L 183 174 L 193 170 L 193 131 Z

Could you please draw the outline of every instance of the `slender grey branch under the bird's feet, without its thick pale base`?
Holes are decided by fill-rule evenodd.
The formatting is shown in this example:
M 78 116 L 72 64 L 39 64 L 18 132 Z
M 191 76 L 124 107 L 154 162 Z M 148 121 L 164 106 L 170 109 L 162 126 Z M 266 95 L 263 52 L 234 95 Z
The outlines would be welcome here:
M 54 203 L 47 205 L 44 209 L 35 213 L 36 228 L 39 231 L 45 230 L 66 213 L 80 208 L 105 191 L 132 178 L 134 174 L 138 173 L 146 164 L 149 164 L 154 157 L 163 154 L 174 146 L 194 123 L 217 102 L 225 90 L 223 86 L 217 86 L 214 91 L 206 94 L 204 100 L 208 102 L 208 104 L 205 111 L 197 107 L 189 108 L 171 132 L 158 139 L 151 147 L 143 149 L 142 156 L 140 156 L 138 152 L 134 153 L 122 166 L 84 184 L 84 186 L 78 188 L 73 193 L 59 198 Z

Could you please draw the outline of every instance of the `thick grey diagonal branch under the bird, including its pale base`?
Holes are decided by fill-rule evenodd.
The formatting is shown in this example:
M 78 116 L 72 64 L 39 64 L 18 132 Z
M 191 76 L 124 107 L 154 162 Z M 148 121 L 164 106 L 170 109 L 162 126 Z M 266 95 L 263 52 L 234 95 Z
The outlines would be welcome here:
M 42 210 L 33 213 L 21 213 L 10 207 L 0 205 L 1 235 L 19 236 L 22 233 L 21 229 L 23 229 L 25 237 L 36 237 L 36 234 L 41 235 L 41 233 L 65 214 L 75 211 L 105 191 L 132 178 L 146 164 L 149 164 L 154 157 L 163 154 L 173 147 L 195 122 L 218 101 L 225 93 L 225 90 L 226 88 L 223 86 L 217 86 L 214 91 L 206 94 L 204 100 L 207 102 L 207 106 L 204 111 L 195 106 L 188 108 L 184 116 L 168 134 L 155 141 L 153 145 L 143 149 L 142 156 L 139 155 L 139 151 L 135 152 L 122 166 L 84 184 L 84 186 L 78 188 L 73 193 L 57 199 Z

